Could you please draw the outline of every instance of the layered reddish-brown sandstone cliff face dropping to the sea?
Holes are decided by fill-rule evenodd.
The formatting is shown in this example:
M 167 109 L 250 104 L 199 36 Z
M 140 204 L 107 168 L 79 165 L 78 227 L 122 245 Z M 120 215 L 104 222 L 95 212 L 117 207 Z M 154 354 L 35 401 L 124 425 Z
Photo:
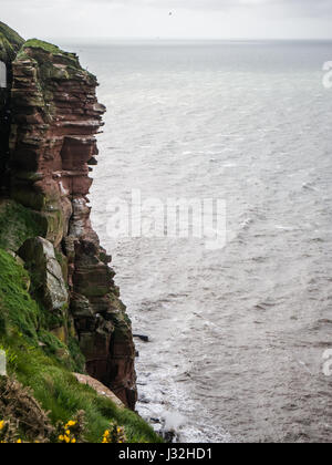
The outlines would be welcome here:
M 96 79 L 75 54 L 37 40 L 13 58 L 10 161 L 2 159 L 10 198 L 32 210 L 43 231 L 14 251 L 31 271 L 32 293 L 52 314 L 53 333 L 62 341 L 77 338 L 87 373 L 134 409 L 131 321 L 111 257 L 92 228 L 86 197 L 105 112 L 96 99 Z M 9 99 L 2 106 L 8 105 Z

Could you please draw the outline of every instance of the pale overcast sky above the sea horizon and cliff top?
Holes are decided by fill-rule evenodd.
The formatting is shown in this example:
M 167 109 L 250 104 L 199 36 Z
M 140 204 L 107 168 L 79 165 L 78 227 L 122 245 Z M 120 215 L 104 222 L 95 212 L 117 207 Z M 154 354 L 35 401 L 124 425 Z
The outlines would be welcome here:
M 0 20 L 41 39 L 332 39 L 332 0 L 0 0 Z

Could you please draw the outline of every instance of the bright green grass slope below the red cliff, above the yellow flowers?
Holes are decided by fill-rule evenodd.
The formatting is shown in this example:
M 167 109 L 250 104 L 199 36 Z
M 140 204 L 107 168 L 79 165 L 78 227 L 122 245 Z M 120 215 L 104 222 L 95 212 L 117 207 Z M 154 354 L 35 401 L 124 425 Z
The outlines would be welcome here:
M 43 328 L 43 309 L 31 299 L 28 281 L 23 267 L 0 249 L 0 348 L 9 354 L 9 374 L 31 388 L 53 424 L 66 422 L 83 410 L 87 442 L 100 442 L 114 420 L 125 427 L 128 442 L 162 442 L 134 412 L 118 409 L 76 381 L 71 352 L 80 356 L 77 344 L 71 341 L 75 347 L 70 351 Z

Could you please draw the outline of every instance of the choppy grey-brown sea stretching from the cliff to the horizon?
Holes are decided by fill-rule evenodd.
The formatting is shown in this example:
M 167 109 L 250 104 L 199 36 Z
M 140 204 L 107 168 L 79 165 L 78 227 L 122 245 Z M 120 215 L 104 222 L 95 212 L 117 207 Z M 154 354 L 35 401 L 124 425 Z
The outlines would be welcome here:
M 107 106 L 92 219 L 151 340 L 139 413 L 187 442 L 331 441 L 332 43 L 66 48 Z M 110 199 L 132 189 L 224 199 L 226 246 L 110 237 Z

